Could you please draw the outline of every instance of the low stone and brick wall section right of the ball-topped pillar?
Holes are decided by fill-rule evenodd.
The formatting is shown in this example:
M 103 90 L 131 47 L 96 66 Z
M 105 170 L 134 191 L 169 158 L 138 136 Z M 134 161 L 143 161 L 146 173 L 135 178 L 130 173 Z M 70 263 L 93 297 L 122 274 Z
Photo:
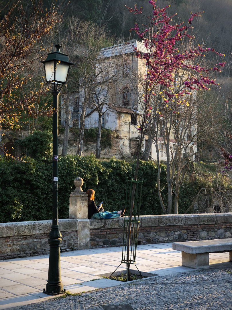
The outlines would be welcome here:
M 231 236 L 232 213 L 147 215 L 140 216 L 138 244 L 224 239 Z M 90 247 L 122 245 L 123 222 L 120 218 L 90 220 Z

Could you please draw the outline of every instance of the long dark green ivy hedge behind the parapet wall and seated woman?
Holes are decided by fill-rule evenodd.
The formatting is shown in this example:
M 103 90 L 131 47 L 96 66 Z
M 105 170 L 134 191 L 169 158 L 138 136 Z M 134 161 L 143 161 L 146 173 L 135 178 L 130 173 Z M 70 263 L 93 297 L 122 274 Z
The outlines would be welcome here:
M 45 220 L 52 218 L 52 162 L 25 157 L 25 162 L 0 159 L 0 222 Z M 100 161 L 94 155 L 67 155 L 58 161 L 58 217 L 69 217 L 69 194 L 73 180 L 84 179 L 83 190 L 93 188 L 97 203 L 105 210 L 121 210 L 125 204 L 126 181 L 133 178 L 135 162 L 112 158 Z M 161 214 L 156 193 L 157 167 L 141 162 L 138 179 L 144 181 L 141 214 Z M 165 191 L 165 167 L 162 166 L 162 190 Z

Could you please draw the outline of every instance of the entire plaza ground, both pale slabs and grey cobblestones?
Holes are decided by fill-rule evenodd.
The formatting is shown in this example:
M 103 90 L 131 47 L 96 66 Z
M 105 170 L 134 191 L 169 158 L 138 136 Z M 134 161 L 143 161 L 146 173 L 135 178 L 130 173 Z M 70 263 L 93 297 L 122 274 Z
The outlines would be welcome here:
M 85 292 L 66 298 L 42 293 L 47 255 L 1 261 L 0 309 L 104 310 L 106 305 L 115 310 L 120 310 L 120 305 L 134 310 L 232 308 L 232 263 L 228 253 L 210 254 L 210 268 L 195 270 L 180 266 L 181 253 L 172 250 L 170 243 L 138 246 L 137 267 L 158 276 L 127 284 L 100 277 L 114 271 L 120 260 L 119 247 L 62 253 L 64 288 L 71 293 Z

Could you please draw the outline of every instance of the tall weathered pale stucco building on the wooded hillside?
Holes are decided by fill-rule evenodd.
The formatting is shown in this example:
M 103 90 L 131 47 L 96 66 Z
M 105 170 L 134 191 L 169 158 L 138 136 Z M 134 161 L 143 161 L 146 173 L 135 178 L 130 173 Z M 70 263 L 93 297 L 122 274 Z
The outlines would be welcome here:
M 137 129 L 140 117 L 140 89 L 141 81 L 146 73 L 144 60 L 135 57 L 135 48 L 146 52 L 144 44 L 133 40 L 128 43 L 107 47 L 100 51 L 99 63 L 96 65 L 96 85 L 91 89 L 88 105 L 85 112 L 85 128 L 98 128 L 99 113 L 96 103 L 101 108 L 102 127 L 116 131 L 120 155 L 132 158 L 137 155 L 138 139 L 140 132 Z M 81 84 L 81 81 L 80 81 Z M 84 83 L 83 83 L 84 85 Z M 83 108 L 84 86 L 79 88 L 79 93 L 73 94 L 69 106 L 71 112 L 70 127 L 79 127 L 80 115 Z M 64 124 L 64 109 L 61 121 Z M 195 130 L 195 129 L 193 129 Z M 145 136 L 142 151 L 144 151 Z M 172 143 L 175 144 L 173 137 Z M 188 146 L 188 152 L 196 151 L 196 144 Z M 160 160 L 166 160 L 166 153 L 162 141 L 159 143 Z M 152 146 L 151 156 L 157 160 L 155 145 Z M 194 156 L 195 157 L 195 156 Z M 121 158 L 119 156 L 119 158 Z

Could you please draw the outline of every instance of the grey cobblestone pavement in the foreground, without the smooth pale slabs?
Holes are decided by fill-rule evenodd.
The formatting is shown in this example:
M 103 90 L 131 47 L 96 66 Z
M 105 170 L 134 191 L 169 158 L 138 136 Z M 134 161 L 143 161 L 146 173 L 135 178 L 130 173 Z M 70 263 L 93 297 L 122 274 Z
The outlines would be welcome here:
M 232 268 L 146 278 L 11 310 L 104 310 L 104 305 L 130 305 L 134 310 L 231 310 Z

